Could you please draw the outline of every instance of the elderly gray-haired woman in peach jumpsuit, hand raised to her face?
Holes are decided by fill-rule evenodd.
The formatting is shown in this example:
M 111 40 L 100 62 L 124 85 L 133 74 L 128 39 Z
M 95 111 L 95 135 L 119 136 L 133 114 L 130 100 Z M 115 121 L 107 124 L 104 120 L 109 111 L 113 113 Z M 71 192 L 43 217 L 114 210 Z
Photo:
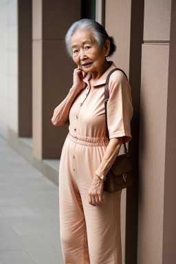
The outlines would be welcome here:
M 65 36 L 67 54 L 78 65 L 73 86 L 52 117 L 69 122 L 59 167 L 61 246 L 65 263 L 122 264 L 121 192 L 103 190 L 104 178 L 122 143 L 131 140 L 131 87 L 124 74 L 109 79 L 106 135 L 104 85 L 116 66 L 113 37 L 94 20 L 74 22 Z

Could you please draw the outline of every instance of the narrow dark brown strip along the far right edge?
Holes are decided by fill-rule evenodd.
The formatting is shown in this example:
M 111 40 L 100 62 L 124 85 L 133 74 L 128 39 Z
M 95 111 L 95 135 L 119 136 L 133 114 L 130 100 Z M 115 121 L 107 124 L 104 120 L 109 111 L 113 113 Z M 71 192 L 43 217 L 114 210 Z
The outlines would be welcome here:
M 163 252 L 162 264 L 176 262 L 176 2 L 172 1 L 170 21 L 170 47 L 168 62 L 168 95 L 166 115 L 166 152 L 164 173 L 164 219 L 163 219 Z

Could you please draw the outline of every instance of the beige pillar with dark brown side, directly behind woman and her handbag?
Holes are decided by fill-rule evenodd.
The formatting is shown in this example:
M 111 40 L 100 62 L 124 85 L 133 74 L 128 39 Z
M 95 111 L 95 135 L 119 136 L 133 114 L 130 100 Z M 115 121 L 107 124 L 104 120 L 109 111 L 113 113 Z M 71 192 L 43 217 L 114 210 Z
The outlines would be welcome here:
M 136 19 L 137 13 L 137 19 Z M 110 15 L 111 14 L 111 15 Z M 122 191 L 121 200 L 121 236 L 122 260 L 135 264 L 137 261 L 137 202 L 138 202 L 138 144 L 139 144 L 139 109 L 140 109 L 140 70 L 141 45 L 143 36 L 144 1 L 106 1 L 105 28 L 113 36 L 117 50 L 109 60 L 124 70 L 129 77 L 133 98 L 133 119 L 131 134 L 133 140 L 126 144 L 133 163 L 135 184 Z M 135 54 L 135 56 L 133 56 Z M 123 153 L 123 147 L 120 154 Z

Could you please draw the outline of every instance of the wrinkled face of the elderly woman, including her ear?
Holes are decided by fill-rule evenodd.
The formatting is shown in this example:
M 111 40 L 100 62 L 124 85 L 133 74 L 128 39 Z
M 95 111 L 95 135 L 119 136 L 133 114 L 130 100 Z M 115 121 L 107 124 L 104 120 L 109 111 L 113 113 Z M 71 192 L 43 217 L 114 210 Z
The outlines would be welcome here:
M 99 72 L 106 59 L 107 41 L 104 47 L 100 49 L 91 30 L 77 30 L 71 38 L 74 62 L 84 72 Z

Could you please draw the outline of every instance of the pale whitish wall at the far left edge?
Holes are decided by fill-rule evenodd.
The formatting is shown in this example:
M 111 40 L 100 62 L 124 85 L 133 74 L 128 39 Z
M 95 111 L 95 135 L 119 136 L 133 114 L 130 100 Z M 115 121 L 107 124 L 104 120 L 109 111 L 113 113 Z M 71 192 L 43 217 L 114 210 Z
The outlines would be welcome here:
M 0 0 L 0 122 L 18 131 L 17 0 Z

